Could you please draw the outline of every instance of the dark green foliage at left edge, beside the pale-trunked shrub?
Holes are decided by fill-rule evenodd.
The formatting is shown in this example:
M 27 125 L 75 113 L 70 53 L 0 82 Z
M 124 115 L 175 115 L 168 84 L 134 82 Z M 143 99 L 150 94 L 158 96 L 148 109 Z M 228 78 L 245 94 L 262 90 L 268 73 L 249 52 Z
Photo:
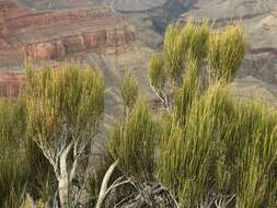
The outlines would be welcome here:
M 0 100 L 0 207 L 18 208 L 24 194 L 42 197 L 39 188 L 48 161 L 34 141 L 25 136 L 25 101 Z

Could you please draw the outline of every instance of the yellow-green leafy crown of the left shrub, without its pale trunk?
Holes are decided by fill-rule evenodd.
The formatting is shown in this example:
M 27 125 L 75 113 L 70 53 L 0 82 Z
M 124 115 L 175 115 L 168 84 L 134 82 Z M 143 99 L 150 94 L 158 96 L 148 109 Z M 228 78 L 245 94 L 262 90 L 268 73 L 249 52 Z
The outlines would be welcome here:
M 99 72 L 65 63 L 59 70 L 28 70 L 28 135 L 44 147 L 62 137 L 65 125 L 79 139 L 93 132 L 104 111 L 104 82 Z M 84 136 L 85 137 L 85 136 Z

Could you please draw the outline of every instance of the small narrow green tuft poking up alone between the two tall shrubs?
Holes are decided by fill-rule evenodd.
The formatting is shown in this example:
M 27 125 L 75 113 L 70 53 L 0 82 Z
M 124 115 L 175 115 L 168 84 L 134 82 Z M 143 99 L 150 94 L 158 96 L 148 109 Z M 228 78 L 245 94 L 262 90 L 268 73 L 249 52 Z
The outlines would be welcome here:
M 138 81 L 130 73 L 125 74 L 120 91 L 124 106 L 127 106 L 129 109 L 132 108 L 138 99 L 139 85 Z

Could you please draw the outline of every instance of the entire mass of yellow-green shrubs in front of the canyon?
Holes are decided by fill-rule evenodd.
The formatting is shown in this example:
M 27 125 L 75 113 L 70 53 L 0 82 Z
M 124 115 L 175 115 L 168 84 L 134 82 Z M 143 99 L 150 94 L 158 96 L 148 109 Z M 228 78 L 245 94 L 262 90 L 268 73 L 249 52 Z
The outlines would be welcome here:
M 0 101 L 0 207 L 267 208 L 277 205 L 277 114 L 234 100 L 243 30 L 170 25 L 149 62 L 153 111 L 126 74 L 124 112 L 92 164 L 104 80 L 74 62 L 34 71 Z

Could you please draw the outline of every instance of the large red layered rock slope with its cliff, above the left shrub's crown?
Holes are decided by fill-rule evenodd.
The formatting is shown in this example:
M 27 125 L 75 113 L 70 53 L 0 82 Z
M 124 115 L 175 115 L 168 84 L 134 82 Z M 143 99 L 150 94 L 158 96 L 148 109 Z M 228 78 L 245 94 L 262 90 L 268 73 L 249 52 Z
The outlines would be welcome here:
M 134 39 L 129 25 L 106 5 L 33 12 L 13 1 L 0 4 L 0 49 L 57 59 L 85 50 L 120 53 Z

